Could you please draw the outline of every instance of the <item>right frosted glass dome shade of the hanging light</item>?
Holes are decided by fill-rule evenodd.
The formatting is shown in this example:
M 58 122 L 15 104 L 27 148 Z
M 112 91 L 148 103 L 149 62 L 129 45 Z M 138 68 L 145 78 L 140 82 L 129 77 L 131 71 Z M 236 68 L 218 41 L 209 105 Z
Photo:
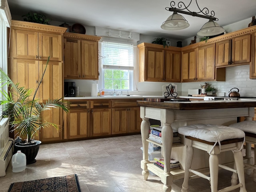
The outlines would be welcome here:
M 225 30 L 213 20 L 209 20 L 197 33 L 199 36 L 214 36 L 223 33 Z

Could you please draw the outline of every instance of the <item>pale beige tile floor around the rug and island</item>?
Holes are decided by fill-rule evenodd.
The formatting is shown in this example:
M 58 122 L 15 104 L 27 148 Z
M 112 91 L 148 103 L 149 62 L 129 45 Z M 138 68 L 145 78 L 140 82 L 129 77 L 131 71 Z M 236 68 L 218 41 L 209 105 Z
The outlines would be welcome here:
M 27 165 L 23 172 L 12 172 L 9 164 L 6 176 L 0 177 L 0 192 L 7 192 L 11 183 L 54 176 L 77 174 L 82 192 L 161 192 L 158 176 L 142 178 L 141 136 L 122 136 L 40 146 L 37 162 Z M 252 174 L 246 175 L 247 192 L 255 192 Z M 219 185 L 229 184 L 231 173 L 219 172 Z M 183 179 L 175 180 L 172 192 L 181 192 Z M 203 178 L 189 182 L 189 192 L 210 192 Z M 239 189 L 234 190 L 239 192 Z

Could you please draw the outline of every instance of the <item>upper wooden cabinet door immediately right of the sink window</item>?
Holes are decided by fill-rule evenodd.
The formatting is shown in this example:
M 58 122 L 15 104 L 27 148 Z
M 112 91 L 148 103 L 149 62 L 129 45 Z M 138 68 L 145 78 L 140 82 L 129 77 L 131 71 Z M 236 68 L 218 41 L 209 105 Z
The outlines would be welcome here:
M 145 81 L 164 81 L 164 50 L 145 49 Z

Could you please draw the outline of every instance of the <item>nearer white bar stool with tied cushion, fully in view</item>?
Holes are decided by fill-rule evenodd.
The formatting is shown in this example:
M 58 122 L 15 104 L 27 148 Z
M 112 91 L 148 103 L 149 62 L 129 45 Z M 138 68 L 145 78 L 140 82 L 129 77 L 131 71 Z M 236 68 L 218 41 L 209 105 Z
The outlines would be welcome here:
M 178 129 L 178 132 L 185 136 L 186 162 L 184 182 L 182 184 L 182 192 L 188 192 L 188 180 L 193 178 L 189 176 L 190 172 L 205 178 L 210 181 L 211 192 L 217 192 L 218 188 L 218 167 L 236 172 L 239 178 L 239 184 L 228 186 L 219 190 L 221 192 L 232 191 L 240 188 L 240 192 L 246 192 L 244 181 L 244 166 L 242 147 L 244 143 L 244 132 L 237 128 L 212 125 L 212 124 L 194 124 L 190 126 L 183 126 Z M 209 157 L 210 177 L 191 169 L 193 159 L 193 148 L 207 151 Z M 236 163 L 236 170 L 219 164 L 217 154 L 224 151 L 232 150 L 234 153 L 234 161 Z

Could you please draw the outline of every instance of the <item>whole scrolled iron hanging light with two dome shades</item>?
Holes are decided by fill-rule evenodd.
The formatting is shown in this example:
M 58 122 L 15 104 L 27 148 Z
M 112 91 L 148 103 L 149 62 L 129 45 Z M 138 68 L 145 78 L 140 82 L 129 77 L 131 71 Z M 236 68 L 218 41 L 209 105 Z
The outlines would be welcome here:
M 190 4 L 192 3 L 192 0 L 190 0 L 190 3 L 188 6 L 186 6 L 183 2 L 178 2 L 177 6 L 178 8 L 175 7 L 175 2 L 171 1 L 170 6 L 171 7 L 166 7 L 165 9 L 168 11 L 172 11 L 173 14 L 167 18 L 165 22 L 161 25 L 161 28 L 164 30 L 181 30 L 188 28 L 189 23 L 188 21 L 180 14 L 186 14 L 186 15 L 191 15 L 194 17 L 200 17 L 200 18 L 206 18 L 209 19 L 209 22 L 204 24 L 200 31 L 197 33 L 200 36 L 213 36 L 213 35 L 218 35 L 224 32 L 224 29 L 215 21 L 218 21 L 218 18 L 215 18 L 215 12 L 211 11 L 209 12 L 208 8 L 199 8 L 197 0 L 195 0 L 196 5 L 198 9 L 200 10 L 199 12 L 192 12 L 188 9 Z M 188 11 L 184 11 L 188 10 Z M 202 13 L 202 14 L 200 14 Z M 210 13 L 210 15 L 209 15 Z

